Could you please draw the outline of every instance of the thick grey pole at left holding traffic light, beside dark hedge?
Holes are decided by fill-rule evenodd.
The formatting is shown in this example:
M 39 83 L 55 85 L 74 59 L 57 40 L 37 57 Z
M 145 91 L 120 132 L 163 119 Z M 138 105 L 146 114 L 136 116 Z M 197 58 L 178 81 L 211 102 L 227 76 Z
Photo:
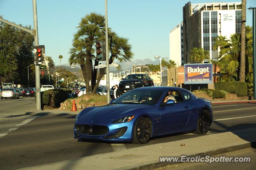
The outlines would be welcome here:
M 34 36 L 35 46 L 38 46 L 38 27 L 37 27 L 37 12 L 36 12 L 36 0 L 33 1 L 33 18 L 34 18 L 34 30 L 36 35 Z M 41 110 L 41 90 L 40 90 L 40 65 L 36 64 L 36 110 Z

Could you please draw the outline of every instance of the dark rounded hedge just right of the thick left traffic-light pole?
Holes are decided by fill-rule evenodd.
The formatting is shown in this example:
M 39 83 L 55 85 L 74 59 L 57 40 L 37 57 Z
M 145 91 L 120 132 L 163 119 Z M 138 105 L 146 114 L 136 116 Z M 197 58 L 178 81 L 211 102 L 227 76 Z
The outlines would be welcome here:
M 70 98 L 71 94 L 72 90 L 69 89 L 46 90 L 42 95 L 43 104 L 53 108 L 60 107 L 60 103 Z

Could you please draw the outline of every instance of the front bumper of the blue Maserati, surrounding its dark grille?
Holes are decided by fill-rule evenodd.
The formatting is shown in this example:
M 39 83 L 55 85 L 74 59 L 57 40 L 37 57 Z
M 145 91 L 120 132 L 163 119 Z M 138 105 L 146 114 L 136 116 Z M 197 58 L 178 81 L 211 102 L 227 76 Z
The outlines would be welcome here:
M 130 121 L 126 123 L 117 123 L 117 124 L 109 123 L 108 125 L 100 125 L 100 124 L 90 125 L 90 127 L 106 126 L 108 128 L 108 132 L 103 135 L 90 135 L 88 131 L 87 133 L 81 133 L 81 130 L 78 129 L 78 124 L 75 124 L 74 139 L 130 142 L 132 141 L 133 123 L 134 123 L 133 121 Z M 86 130 L 84 130 L 84 132 L 85 131 Z

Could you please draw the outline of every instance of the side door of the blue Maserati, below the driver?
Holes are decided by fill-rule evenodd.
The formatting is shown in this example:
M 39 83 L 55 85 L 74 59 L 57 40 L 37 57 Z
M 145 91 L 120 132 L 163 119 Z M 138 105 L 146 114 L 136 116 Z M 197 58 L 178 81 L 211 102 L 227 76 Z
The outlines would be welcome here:
M 162 103 L 160 106 L 161 129 L 163 133 L 184 129 L 191 112 L 189 102 L 184 101 L 181 91 L 176 90 L 169 93 L 174 94 L 176 103 L 172 105 Z

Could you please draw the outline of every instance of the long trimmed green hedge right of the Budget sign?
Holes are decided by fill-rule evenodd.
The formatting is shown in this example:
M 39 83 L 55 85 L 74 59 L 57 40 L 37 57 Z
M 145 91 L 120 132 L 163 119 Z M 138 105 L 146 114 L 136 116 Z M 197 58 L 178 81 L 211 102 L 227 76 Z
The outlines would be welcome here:
M 229 93 L 236 93 L 237 96 L 247 96 L 246 82 L 216 82 L 216 90 L 224 90 Z

